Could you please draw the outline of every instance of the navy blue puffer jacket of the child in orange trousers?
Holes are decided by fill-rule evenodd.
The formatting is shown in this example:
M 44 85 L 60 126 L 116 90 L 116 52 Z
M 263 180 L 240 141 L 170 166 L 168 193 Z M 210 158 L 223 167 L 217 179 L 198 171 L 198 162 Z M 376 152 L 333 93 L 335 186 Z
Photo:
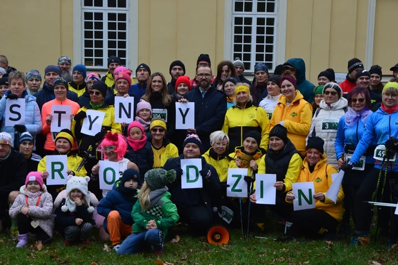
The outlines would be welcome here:
M 121 221 L 126 225 L 133 225 L 134 220 L 131 217 L 131 211 L 138 197 L 127 197 L 123 195 L 119 190 L 121 181 L 118 180 L 113 184 L 113 188 L 106 194 L 106 197 L 100 200 L 97 206 L 97 212 L 105 217 L 103 220 L 103 228 L 106 230 L 106 219 L 111 211 L 118 211 L 121 217 Z

